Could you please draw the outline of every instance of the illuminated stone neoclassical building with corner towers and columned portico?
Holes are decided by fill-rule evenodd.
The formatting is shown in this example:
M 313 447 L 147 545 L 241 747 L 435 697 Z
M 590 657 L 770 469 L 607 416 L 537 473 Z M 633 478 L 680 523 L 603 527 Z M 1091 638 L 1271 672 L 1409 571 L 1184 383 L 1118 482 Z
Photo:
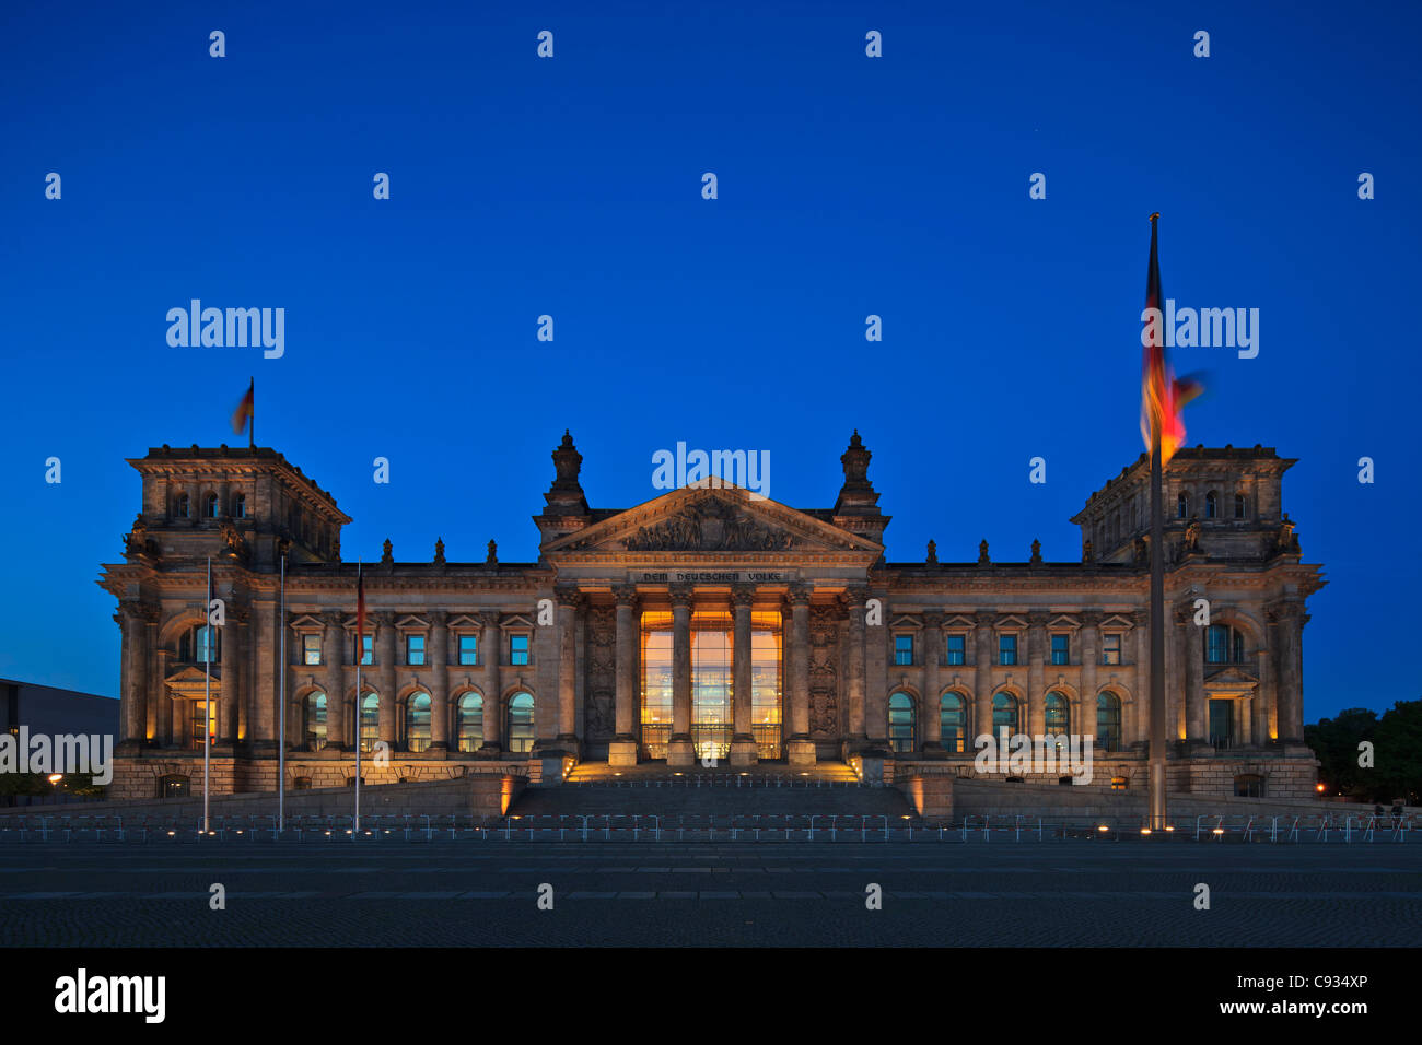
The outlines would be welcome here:
M 122 630 L 114 796 L 201 788 L 205 738 L 215 792 L 274 789 L 283 717 L 292 788 L 350 783 L 357 745 L 367 783 L 866 756 L 890 779 L 974 776 L 998 772 L 974 763 L 975 738 L 1005 732 L 1091 735 L 1088 786 L 1143 789 L 1146 458 L 1072 519 L 1071 563 L 1037 542 L 994 562 L 985 540 L 977 562 L 940 563 L 931 543 L 924 562 L 886 562 L 857 432 L 840 461 L 832 508 L 702 485 L 594 509 L 565 435 L 538 562 L 501 563 L 493 542 L 482 563 L 445 562 L 439 543 L 397 562 L 385 542 L 364 567 L 358 650 L 334 498 L 273 449 L 151 449 L 129 461 L 142 510 L 100 580 Z M 1172 791 L 1311 795 L 1303 628 L 1324 582 L 1283 512 L 1293 463 L 1199 446 L 1166 468 Z

